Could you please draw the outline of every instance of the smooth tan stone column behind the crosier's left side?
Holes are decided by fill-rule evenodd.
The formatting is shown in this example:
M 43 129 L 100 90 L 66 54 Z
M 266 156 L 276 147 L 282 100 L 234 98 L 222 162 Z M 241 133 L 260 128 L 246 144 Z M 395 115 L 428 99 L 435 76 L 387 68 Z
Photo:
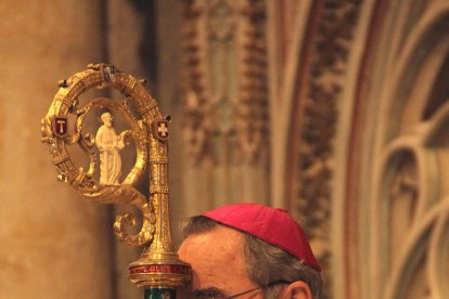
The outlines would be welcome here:
M 57 80 L 102 61 L 102 13 L 99 0 L 0 5 L 2 298 L 114 298 L 108 209 L 56 182 L 40 142 Z

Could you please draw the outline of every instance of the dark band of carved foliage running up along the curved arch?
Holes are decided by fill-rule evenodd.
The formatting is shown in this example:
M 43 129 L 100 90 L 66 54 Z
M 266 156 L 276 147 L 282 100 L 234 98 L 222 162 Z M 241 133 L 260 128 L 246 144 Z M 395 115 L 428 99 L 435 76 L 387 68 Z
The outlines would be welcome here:
M 311 50 L 308 93 L 302 99 L 298 117 L 302 123 L 297 139 L 297 210 L 325 269 L 330 268 L 331 257 L 332 143 L 338 117 L 337 101 L 361 2 L 324 1 Z M 326 284 L 331 282 L 325 281 Z

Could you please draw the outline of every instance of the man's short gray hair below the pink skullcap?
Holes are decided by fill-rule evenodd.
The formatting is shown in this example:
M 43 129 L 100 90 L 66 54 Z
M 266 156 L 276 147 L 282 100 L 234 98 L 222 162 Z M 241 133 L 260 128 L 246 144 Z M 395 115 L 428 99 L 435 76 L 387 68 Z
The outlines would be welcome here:
M 227 226 L 207 217 L 195 216 L 184 223 L 182 237 L 209 232 L 218 225 Z M 267 286 L 269 283 L 278 281 L 292 283 L 303 281 L 310 287 L 315 299 L 323 298 L 322 280 L 317 270 L 277 246 L 245 232 L 240 232 L 243 235 L 243 253 L 249 280 L 259 286 Z M 283 285 L 269 287 L 265 292 L 265 298 L 275 298 L 283 287 Z

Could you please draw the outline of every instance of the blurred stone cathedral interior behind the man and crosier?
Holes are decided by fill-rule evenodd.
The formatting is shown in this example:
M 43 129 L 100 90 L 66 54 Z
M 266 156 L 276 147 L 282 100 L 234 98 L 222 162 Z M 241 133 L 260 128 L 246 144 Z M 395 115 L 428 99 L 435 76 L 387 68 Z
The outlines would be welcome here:
M 41 142 L 59 80 L 100 62 L 146 79 L 171 118 L 175 243 L 190 216 L 262 203 L 302 223 L 328 298 L 447 298 L 449 1 L 3 0 L 0 13 L 1 299 L 142 297 L 128 280 L 142 248 L 113 234 L 128 207 L 59 182 Z

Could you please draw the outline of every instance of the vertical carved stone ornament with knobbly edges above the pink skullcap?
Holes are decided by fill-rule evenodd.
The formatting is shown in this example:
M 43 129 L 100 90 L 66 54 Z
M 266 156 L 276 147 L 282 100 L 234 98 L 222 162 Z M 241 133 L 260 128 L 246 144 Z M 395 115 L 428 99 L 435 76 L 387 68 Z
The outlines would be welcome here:
M 184 17 L 190 153 L 196 160 L 217 160 L 214 148 L 226 146 L 254 161 L 268 146 L 264 2 L 184 1 Z

